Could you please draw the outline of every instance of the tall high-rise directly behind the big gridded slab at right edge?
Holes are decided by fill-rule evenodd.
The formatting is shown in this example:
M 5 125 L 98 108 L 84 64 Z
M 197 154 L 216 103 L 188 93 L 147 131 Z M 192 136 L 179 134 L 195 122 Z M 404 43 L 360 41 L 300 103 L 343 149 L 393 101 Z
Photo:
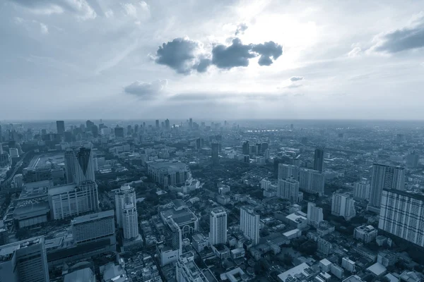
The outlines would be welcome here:
M 405 170 L 397 166 L 385 166 L 383 164 L 372 165 L 372 179 L 370 190 L 370 203 L 367 209 L 379 212 L 383 189 L 404 190 Z

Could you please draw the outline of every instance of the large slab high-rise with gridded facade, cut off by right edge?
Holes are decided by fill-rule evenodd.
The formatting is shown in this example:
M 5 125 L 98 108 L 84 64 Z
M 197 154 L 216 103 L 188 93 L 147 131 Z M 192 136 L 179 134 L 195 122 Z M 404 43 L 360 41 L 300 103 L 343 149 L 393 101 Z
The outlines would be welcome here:
M 384 189 L 378 228 L 424 247 L 424 195 Z

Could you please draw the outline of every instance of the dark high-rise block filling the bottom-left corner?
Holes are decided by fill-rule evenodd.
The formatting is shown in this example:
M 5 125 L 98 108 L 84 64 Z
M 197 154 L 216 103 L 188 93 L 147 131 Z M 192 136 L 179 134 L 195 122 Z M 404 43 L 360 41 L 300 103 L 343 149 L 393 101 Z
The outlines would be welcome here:
M 49 281 L 44 236 L 0 247 L 0 281 Z

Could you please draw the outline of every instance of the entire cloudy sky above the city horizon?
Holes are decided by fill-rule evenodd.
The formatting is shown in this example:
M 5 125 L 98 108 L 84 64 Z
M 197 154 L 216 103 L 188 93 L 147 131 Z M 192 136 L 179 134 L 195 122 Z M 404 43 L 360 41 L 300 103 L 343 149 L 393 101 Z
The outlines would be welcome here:
M 0 120 L 424 119 L 424 1 L 3 0 Z

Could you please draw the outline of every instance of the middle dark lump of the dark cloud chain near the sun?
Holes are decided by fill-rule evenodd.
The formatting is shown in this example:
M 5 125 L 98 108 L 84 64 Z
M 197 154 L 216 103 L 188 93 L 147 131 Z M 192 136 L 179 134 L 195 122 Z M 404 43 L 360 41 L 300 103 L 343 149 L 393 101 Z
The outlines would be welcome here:
M 234 68 L 236 66 L 249 66 L 249 59 L 257 54 L 252 53 L 252 44 L 245 45 L 238 38 L 232 39 L 228 47 L 218 45 L 212 49 L 212 63 L 218 68 Z

